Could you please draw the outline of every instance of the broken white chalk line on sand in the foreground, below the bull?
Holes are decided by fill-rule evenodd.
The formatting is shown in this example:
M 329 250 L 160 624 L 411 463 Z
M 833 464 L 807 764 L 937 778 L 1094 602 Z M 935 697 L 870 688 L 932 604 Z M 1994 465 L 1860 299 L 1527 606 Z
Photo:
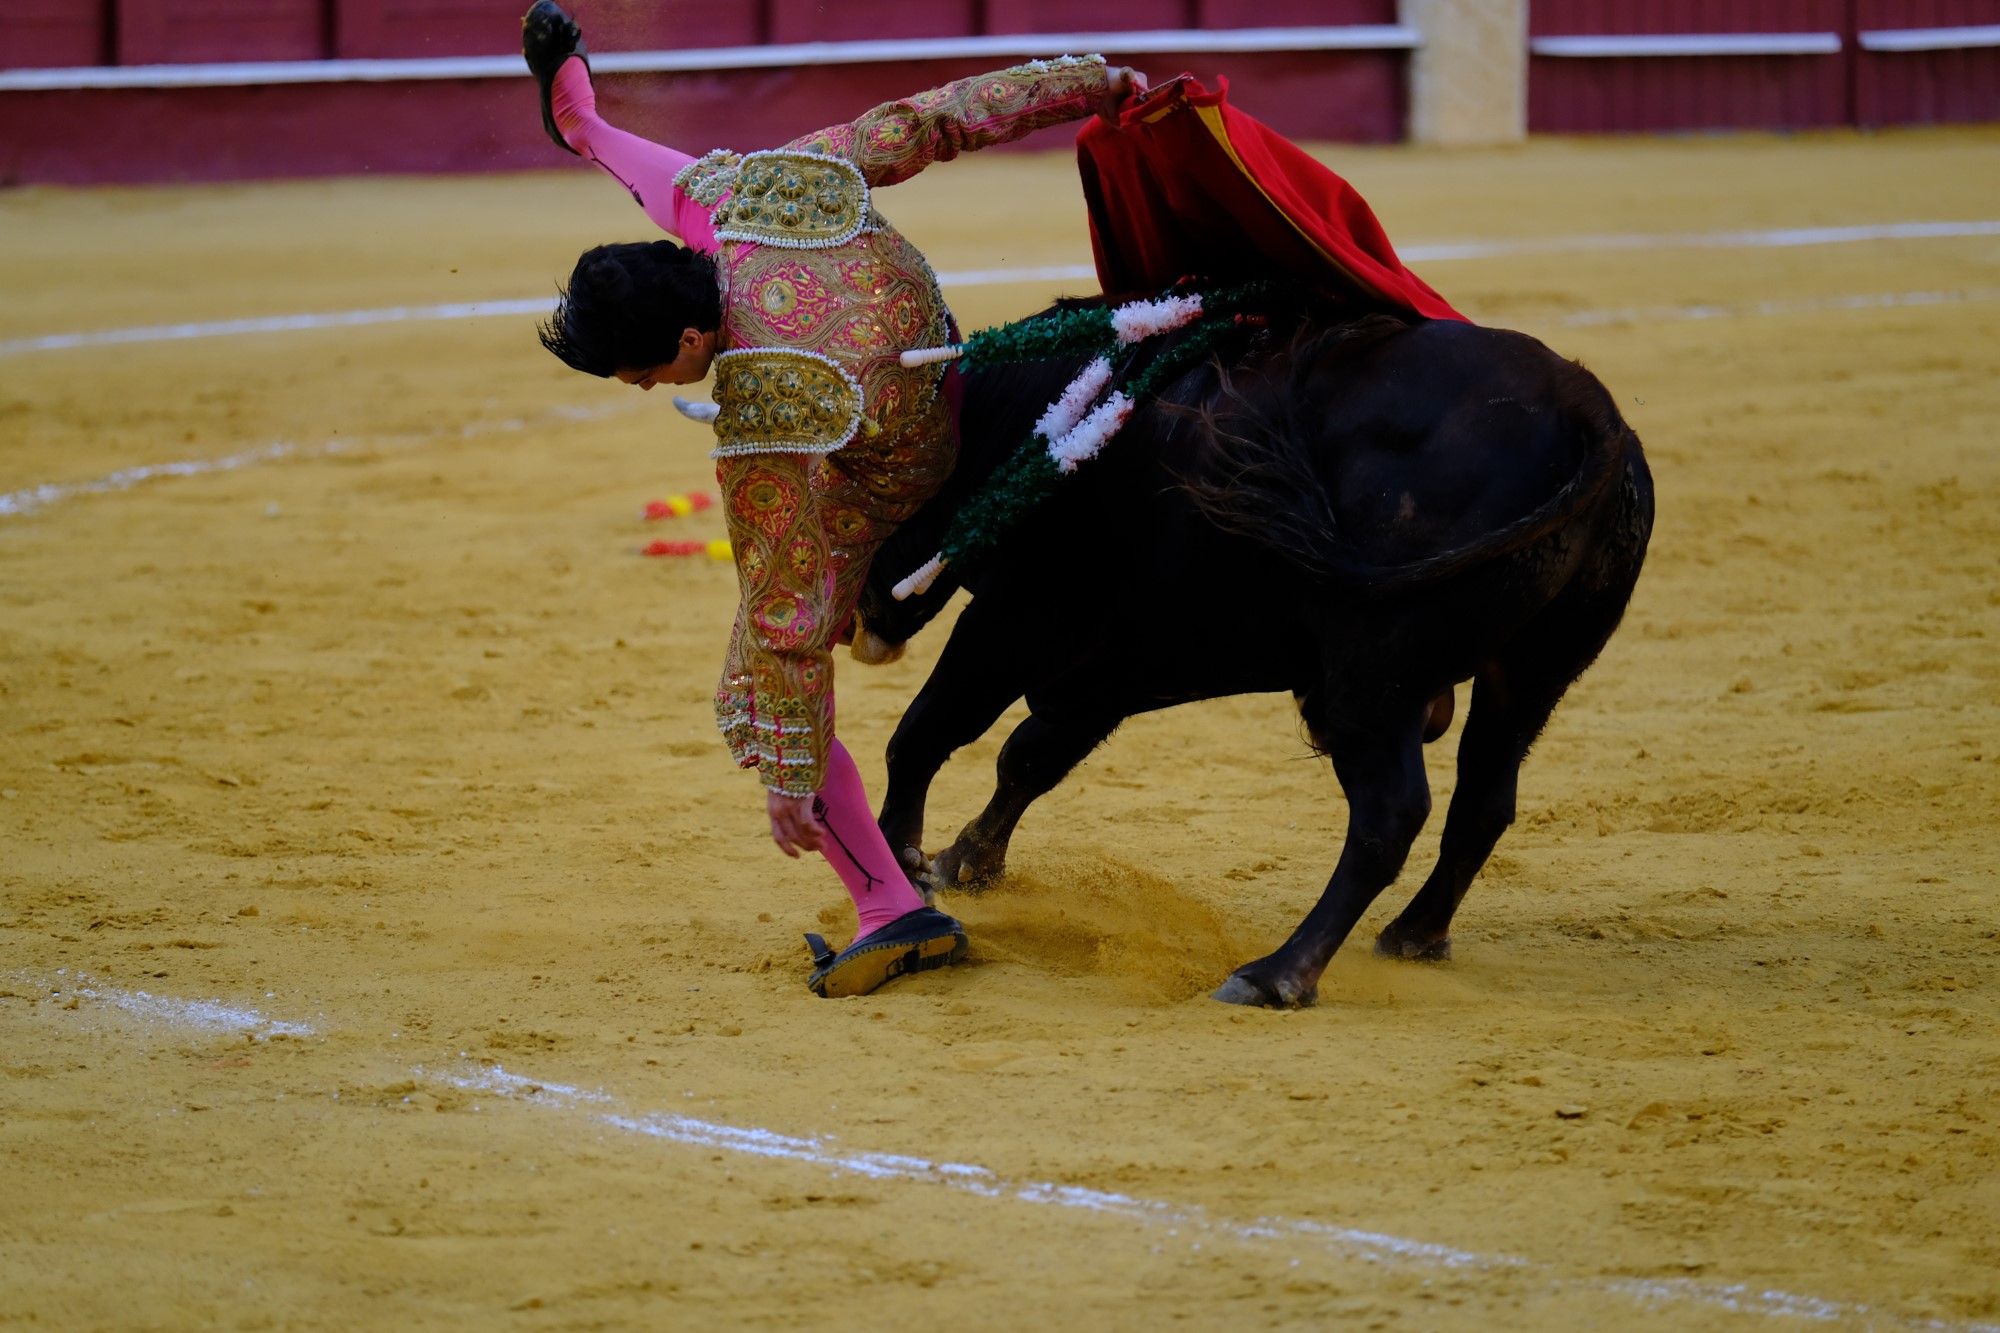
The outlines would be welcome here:
M 56 983 L 18 977 L 36 987 L 42 999 L 66 1001 L 86 999 L 114 1009 L 128 1019 L 164 1027 L 168 1031 L 240 1033 L 252 1039 L 268 1037 L 312 1037 L 318 1029 L 304 1023 L 284 1023 L 268 1019 L 254 1009 L 226 1005 L 222 1001 L 182 1001 L 150 995 L 146 991 L 124 991 L 98 985 L 82 975 L 68 979 L 68 969 L 58 971 Z M 1118 1217 L 1144 1227 L 1166 1229 L 1180 1239 L 1182 1233 L 1230 1241 L 1240 1245 L 1260 1243 L 1304 1243 L 1336 1259 L 1386 1263 L 1416 1269 L 1440 1269 L 1446 1273 L 1506 1271 L 1518 1275 L 1548 1277 L 1548 1289 L 1556 1293 L 1618 1295 L 1640 1305 L 1700 1305 L 1738 1315 L 1762 1315 L 1772 1319 L 1806 1319 L 1814 1323 L 1866 1323 L 1874 1327 L 1934 1329 L 1936 1333 L 2000 1333 L 2000 1325 L 1952 1323 L 1944 1319 L 1908 1319 L 1878 1311 L 1870 1305 L 1848 1301 L 1828 1301 L 1798 1295 L 1792 1291 L 1758 1291 L 1746 1283 L 1704 1283 L 1698 1279 L 1622 1279 L 1622 1277 L 1564 1277 L 1550 1265 L 1534 1263 L 1514 1255 L 1486 1255 L 1478 1251 L 1414 1241 L 1382 1231 L 1360 1231 L 1336 1227 L 1298 1217 L 1258 1217 L 1238 1221 L 1216 1217 L 1198 1205 L 1168 1203 L 1162 1199 L 1140 1199 L 1080 1185 L 1058 1185 L 1054 1181 L 1022 1181 L 1004 1177 L 990 1167 L 974 1163 L 930 1161 L 904 1153 L 868 1153 L 836 1147 L 824 1137 L 784 1135 L 772 1129 L 750 1125 L 726 1125 L 700 1121 L 670 1113 L 626 1113 L 616 1109 L 618 1099 L 610 1093 L 576 1085 L 528 1079 L 498 1065 L 472 1067 L 462 1073 L 432 1071 L 416 1067 L 414 1077 L 456 1087 L 460 1091 L 488 1093 L 510 1101 L 526 1103 L 546 1111 L 568 1111 L 622 1133 L 642 1135 L 664 1143 L 738 1153 L 764 1161 L 790 1161 L 832 1171 L 836 1175 L 860 1175 L 882 1183 L 940 1185 L 980 1199 L 1006 1199 L 1014 1203 L 1078 1209 L 1100 1217 Z M 1190 1241 L 1198 1245 L 1198 1241 Z

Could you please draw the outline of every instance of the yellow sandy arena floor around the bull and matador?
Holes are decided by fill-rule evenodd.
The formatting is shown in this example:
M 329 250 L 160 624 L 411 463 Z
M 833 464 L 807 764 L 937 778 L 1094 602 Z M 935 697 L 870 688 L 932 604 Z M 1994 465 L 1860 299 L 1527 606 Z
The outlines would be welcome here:
M 2000 218 L 2000 132 L 1338 162 L 1406 246 Z M 884 206 L 1088 260 L 1060 154 Z M 536 296 L 644 220 L 572 170 L 0 234 L 6 342 Z M 970 965 L 818 1001 L 848 909 L 708 721 L 732 574 L 636 556 L 720 534 L 638 518 L 712 484 L 666 394 L 528 316 L 0 348 L 0 1325 L 2000 1323 L 2000 236 L 1422 270 L 1606 378 L 1658 536 L 1458 961 L 1360 947 L 1454 735 L 1304 1013 L 1206 999 L 1338 847 L 1286 699 L 1134 721 L 948 901 Z M 872 785 L 942 638 L 840 669 Z

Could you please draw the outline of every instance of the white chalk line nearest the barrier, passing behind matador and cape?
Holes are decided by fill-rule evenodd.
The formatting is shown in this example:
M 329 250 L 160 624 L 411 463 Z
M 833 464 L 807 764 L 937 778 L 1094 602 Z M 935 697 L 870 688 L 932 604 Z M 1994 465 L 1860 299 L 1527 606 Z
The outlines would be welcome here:
M 1868 240 L 1950 240 L 2000 236 L 2000 222 L 1886 222 L 1876 226 L 1792 226 L 1734 232 L 1626 232 L 1608 236 L 1524 236 L 1518 240 L 1434 242 L 1404 248 L 1410 264 L 1508 258 L 1518 254 L 1578 254 L 1618 250 L 1764 250 L 1798 246 L 1858 244 Z M 1094 282 L 1090 264 L 1050 264 L 1040 268 L 960 268 L 938 274 L 950 288 L 1008 286 L 1020 282 Z M 318 314 L 270 314 L 240 320 L 190 324 L 146 324 L 138 328 L 98 328 L 90 332 L 42 334 L 0 340 L 0 356 L 56 352 L 78 346 L 128 342 L 176 342 L 184 338 L 226 338 L 236 334 L 300 332 L 312 328 L 356 328 L 364 324 L 408 324 L 428 320 L 478 320 L 546 314 L 548 296 L 522 300 L 460 300 L 432 306 L 382 306 L 376 310 L 326 310 Z

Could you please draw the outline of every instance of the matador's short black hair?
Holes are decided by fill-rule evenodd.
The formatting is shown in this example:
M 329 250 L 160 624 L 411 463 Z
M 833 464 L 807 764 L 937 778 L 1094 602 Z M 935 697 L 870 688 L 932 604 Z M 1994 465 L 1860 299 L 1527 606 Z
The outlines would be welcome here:
M 714 258 L 672 240 L 632 240 L 584 250 L 538 332 L 562 364 L 602 378 L 666 364 L 684 328 L 720 324 Z

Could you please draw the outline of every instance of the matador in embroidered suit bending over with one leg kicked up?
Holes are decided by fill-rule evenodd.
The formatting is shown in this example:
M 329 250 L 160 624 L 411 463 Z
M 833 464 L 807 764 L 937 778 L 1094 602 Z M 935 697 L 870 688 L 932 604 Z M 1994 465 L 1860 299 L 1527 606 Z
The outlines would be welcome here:
M 808 935 L 810 985 L 860 995 L 954 963 L 964 929 L 910 885 L 834 733 L 832 646 L 868 562 L 956 454 L 948 372 L 898 362 L 950 342 L 950 312 L 874 192 L 960 152 L 1110 116 L 1144 80 L 1098 56 L 1030 60 L 782 148 L 694 158 L 598 116 L 582 34 L 552 0 L 528 10 L 522 52 L 556 144 L 680 238 L 584 252 L 542 342 L 642 390 L 714 372 L 716 478 L 742 598 L 716 721 L 764 781 L 772 839 L 792 857 L 822 853 L 858 913 L 844 951 Z

